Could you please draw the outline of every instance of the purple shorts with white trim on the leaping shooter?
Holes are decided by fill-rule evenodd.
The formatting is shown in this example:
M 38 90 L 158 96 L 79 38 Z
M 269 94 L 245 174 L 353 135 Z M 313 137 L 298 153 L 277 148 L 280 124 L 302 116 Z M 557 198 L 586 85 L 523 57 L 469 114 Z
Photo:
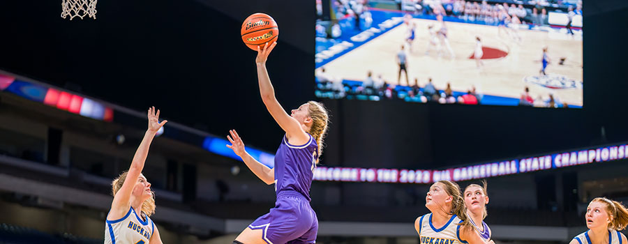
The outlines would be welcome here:
M 275 207 L 248 228 L 262 229 L 269 244 L 316 243 L 318 219 L 310 202 L 298 192 L 279 192 Z

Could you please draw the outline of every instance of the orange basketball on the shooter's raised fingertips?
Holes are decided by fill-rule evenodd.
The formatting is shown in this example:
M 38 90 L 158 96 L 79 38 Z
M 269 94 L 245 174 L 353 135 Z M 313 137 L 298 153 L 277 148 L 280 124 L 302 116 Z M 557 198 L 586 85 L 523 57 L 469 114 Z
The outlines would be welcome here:
M 273 44 L 279 36 L 279 28 L 275 20 L 265 13 L 254 13 L 242 23 L 242 41 L 248 48 L 257 51 L 257 46 Z

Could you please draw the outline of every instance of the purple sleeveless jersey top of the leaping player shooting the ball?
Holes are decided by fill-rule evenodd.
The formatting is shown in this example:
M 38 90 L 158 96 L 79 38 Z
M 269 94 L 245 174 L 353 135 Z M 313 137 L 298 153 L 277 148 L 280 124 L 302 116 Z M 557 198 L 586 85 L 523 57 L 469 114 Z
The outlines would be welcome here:
M 310 198 L 310 186 L 314 177 L 314 168 L 318 159 L 318 145 L 312 135 L 310 140 L 300 146 L 290 145 L 285 136 L 275 154 L 275 191 L 299 192 Z

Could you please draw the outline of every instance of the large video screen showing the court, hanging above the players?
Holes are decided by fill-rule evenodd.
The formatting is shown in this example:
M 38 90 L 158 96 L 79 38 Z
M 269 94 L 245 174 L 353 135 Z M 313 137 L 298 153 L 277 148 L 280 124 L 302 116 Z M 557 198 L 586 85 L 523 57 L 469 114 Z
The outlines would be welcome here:
M 316 0 L 319 98 L 583 106 L 581 0 Z

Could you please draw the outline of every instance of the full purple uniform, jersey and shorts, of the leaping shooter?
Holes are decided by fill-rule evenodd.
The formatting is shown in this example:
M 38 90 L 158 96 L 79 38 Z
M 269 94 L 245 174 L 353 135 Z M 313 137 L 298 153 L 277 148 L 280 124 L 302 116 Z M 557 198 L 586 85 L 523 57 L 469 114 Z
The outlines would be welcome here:
M 316 242 L 318 220 L 310 206 L 310 186 L 318 145 L 309 137 L 301 146 L 290 145 L 283 137 L 275 155 L 275 207 L 248 226 L 262 229 L 262 238 L 269 244 Z

